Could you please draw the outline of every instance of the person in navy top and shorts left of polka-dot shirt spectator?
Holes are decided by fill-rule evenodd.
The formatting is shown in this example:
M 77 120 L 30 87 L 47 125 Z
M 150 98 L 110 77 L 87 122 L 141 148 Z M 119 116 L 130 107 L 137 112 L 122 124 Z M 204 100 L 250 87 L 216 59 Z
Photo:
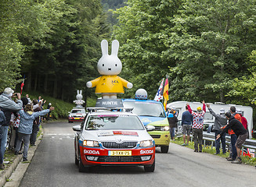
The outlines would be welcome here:
M 186 106 L 186 111 L 184 111 L 182 113 L 182 134 L 183 134 L 183 144 L 182 144 L 182 146 L 188 146 L 189 145 L 192 123 L 193 123 L 193 115 L 191 115 L 189 113 L 188 106 Z

